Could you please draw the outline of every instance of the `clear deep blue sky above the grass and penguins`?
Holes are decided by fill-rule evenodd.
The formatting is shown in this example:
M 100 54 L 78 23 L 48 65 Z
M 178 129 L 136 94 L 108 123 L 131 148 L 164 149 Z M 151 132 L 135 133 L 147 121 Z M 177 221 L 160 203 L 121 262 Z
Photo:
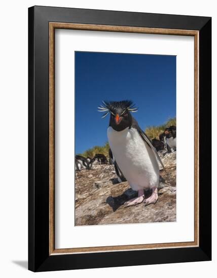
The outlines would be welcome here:
M 143 130 L 176 116 L 175 56 L 76 52 L 75 61 L 77 154 L 107 142 L 103 100 L 132 100 Z

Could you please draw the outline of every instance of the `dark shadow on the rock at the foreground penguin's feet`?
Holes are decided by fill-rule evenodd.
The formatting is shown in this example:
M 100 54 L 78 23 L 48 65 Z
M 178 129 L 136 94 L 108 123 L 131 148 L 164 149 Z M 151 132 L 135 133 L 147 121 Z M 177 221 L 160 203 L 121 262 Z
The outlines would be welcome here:
M 144 191 L 144 197 L 149 198 L 152 195 L 152 190 Z M 131 188 L 127 189 L 123 194 L 112 197 L 109 196 L 106 199 L 106 203 L 112 207 L 113 211 L 115 212 L 118 208 L 124 205 L 125 202 L 138 197 L 138 192 L 132 190 Z

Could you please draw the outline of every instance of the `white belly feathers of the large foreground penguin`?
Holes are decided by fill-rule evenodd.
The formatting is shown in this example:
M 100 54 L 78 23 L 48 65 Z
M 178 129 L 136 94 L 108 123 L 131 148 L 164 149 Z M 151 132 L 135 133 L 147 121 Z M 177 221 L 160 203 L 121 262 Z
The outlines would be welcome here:
M 110 126 L 107 137 L 115 160 L 133 190 L 159 186 L 157 158 L 135 128 L 116 131 Z

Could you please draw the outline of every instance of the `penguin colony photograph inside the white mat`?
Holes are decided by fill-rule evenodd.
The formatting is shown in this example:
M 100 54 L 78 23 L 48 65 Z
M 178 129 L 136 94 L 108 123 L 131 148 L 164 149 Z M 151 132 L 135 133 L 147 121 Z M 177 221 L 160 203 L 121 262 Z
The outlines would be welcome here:
M 75 225 L 175 221 L 176 56 L 75 51 Z

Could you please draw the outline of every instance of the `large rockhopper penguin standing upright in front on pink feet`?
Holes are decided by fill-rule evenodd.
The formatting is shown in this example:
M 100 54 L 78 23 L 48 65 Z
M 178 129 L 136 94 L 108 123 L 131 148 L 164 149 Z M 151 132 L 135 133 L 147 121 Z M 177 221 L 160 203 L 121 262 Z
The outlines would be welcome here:
M 126 202 L 125 207 L 142 202 L 145 205 L 155 204 L 158 200 L 160 174 L 157 160 L 162 166 L 163 163 L 149 137 L 130 113 L 137 112 L 137 108 L 128 100 L 104 101 L 102 104 L 98 107 L 100 112 L 104 112 L 102 118 L 111 114 L 107 137 L 114 160 L 130 187 L 138 191 L 138 197 Z M 148 189 L 152 190 L 152 195 L 146 199 L 144 190 Z

